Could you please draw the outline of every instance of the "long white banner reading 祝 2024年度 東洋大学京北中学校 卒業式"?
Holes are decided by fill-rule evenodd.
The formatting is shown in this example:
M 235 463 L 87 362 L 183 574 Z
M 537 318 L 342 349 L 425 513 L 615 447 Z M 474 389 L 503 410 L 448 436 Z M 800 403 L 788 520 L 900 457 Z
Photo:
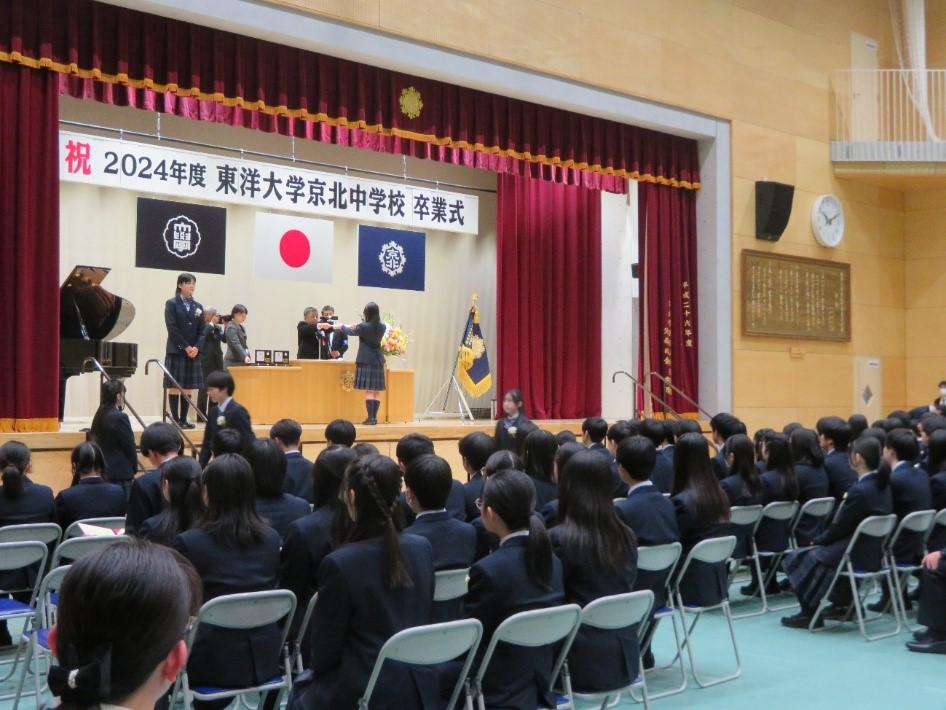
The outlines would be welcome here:
M 479 231 L 479 198 L 471 195 L 68 131 L 59 133 L 59 178 L 359 222 Z

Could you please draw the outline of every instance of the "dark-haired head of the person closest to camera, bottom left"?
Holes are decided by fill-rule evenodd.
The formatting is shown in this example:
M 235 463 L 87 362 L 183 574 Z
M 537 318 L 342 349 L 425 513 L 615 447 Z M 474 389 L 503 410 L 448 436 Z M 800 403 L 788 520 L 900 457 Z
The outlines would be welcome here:
M 166 547 L 122 539 L 76 560 L 49 631 L 59 707 L 152 710 L 187 659 L 200 602 L 194 568 Z

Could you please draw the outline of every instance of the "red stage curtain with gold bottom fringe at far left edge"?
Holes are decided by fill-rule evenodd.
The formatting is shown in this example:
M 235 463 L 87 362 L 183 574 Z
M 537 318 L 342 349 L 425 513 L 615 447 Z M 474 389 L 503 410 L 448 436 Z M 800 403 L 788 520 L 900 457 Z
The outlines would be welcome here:
M 59 428 L 59 95 L 0 62 L 0 431 Z

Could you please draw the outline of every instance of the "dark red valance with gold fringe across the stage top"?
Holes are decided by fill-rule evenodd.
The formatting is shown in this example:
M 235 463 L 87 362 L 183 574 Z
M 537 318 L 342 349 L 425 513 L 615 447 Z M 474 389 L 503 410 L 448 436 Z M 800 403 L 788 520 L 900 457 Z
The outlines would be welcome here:
M 691 139 L 93 0 L 0 3 L 0 61 L 118 105 L 616 192 L 699 188 Z

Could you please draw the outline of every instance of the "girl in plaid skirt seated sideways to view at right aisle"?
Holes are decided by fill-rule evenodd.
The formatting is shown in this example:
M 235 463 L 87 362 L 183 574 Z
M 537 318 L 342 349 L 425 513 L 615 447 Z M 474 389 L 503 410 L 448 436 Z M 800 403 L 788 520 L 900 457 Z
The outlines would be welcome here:
M 847 549 L 854 531 L 861 522 L 872 515 L 889 515 L 893 511 L 893 494 L 890 490 L 890 470 L 881 462 L 881 448 L 876 439 L 862 436 L 850 448 L 851 464 L 857 472 L 858 481 L 847 492 L 844 505 L 838 510 L 831 526 L 818 535 L 815 547 L 789 553 L 782 563 L 788 575 L 801 609 L 797 614 L 782 617 L 782 625 L 794 629 L 808 628 L 815 610 L 821 603 L 834 576 L 835 569 Z M 876 564 L 880 557 L 879 546 L 871 541 L 862 549 L 855 566 Z M 835 585 L 832 602 L 819 617 L 839 619 L 847 615 L 851 601 L 848 585 Z

